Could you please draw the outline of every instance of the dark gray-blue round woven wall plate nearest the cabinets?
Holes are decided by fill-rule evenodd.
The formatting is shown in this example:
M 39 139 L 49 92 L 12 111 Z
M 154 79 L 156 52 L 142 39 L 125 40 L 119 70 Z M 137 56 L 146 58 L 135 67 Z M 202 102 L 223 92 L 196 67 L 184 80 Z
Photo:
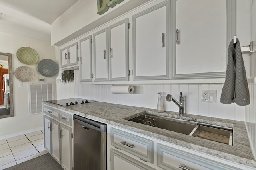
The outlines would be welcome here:
M 43 59 L 37 64 L 38 72 L 45 77 L 53 77 L 59 71 L 59 66 L 51 59 Z

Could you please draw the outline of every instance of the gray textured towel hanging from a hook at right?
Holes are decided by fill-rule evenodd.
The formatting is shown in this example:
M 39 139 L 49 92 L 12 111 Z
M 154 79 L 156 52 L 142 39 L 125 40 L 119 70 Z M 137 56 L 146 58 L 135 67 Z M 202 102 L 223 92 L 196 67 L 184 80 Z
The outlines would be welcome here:
M 238 39 L 236 39 L 235 47 L 233 39 L 228 45 L 226 80 L 222 88 L 220 102 L 223 104 L 233 102 L 241 106 L 250 104 L 244 60 Z

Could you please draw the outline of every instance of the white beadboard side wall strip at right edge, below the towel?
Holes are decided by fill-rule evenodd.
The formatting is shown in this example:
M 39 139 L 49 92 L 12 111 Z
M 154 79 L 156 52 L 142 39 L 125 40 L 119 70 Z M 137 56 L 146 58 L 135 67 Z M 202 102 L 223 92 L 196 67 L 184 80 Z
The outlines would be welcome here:
M 256 83 L 248 83 L 250 104 L 245 107 L 245 124 L 250 140 L 252 154 L 256 158 Z

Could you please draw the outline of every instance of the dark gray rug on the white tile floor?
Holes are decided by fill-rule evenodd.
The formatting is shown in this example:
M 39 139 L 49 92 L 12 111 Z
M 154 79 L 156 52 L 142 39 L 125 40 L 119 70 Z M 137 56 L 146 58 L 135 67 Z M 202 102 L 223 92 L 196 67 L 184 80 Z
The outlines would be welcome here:
M 48 153 L 4 170 L 63 170 L 63 168 Z

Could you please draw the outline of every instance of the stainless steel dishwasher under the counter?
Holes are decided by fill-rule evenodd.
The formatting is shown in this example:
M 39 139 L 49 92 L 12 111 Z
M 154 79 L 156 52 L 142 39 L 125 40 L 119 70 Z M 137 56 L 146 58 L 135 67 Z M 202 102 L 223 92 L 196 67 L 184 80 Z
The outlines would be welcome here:
M 74 170 L 106 170 L 106 124 L 74 115 Z

